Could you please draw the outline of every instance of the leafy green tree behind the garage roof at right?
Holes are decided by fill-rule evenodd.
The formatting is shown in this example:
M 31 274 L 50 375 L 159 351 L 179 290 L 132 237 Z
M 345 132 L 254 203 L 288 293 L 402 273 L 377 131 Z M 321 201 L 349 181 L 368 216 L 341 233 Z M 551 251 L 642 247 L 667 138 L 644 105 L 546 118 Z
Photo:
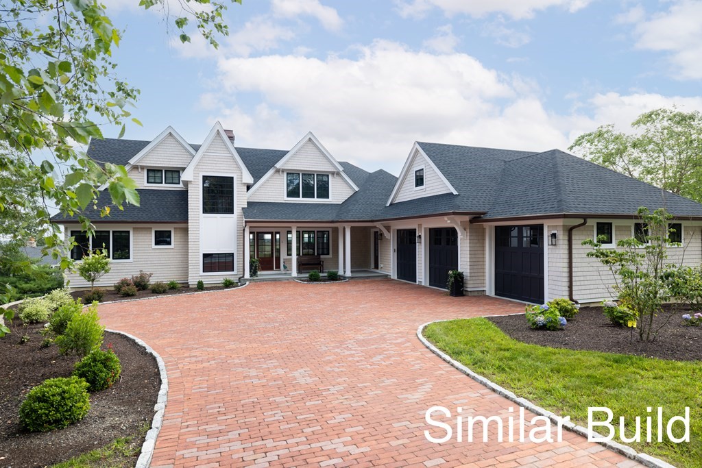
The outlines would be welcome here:
M 576 138 L 569 148 L 585 159 L 674 194 L 702 202 L 702 114 L 673 109 L 644 112 L 632 133 L 609 124 Z

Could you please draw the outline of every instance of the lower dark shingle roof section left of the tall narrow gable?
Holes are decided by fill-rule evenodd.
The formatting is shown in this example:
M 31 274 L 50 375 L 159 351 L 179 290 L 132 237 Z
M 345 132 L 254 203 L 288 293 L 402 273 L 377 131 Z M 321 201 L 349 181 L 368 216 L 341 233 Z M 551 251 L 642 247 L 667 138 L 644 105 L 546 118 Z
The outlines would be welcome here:
M 100 211 L 88 206 L 84 215 L 94 222 L 187 222 L 187 190 L 139 189 L 140 206 L 124 204 L 124 210 L 113 208 L 110 216 L 100 218 Z M 112 205 L 110 192 L 103 190 L 98 197 L 98 207 Z M 53 222 L 77 221 L 78 216 L 64 217 L 60 213 L 51 217 Z

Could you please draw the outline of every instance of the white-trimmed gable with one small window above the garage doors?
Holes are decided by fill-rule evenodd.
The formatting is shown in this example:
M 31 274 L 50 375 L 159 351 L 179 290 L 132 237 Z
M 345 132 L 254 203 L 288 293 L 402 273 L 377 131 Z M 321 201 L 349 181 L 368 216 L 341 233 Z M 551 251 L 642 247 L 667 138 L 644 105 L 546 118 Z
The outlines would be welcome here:
M 424 185 L 415 187 L 414 175 L 415 171 L 419 169 L 424 171 Z M 451 193 L 456 194 L 456 190 L 451 187 L 451 184 L 436 168 L 434 163 L 415 144 L 405 162 L 404 168 L 402 168 L 400 177 L 397 179 L 397 184 L 390 195 L 388 204 Z

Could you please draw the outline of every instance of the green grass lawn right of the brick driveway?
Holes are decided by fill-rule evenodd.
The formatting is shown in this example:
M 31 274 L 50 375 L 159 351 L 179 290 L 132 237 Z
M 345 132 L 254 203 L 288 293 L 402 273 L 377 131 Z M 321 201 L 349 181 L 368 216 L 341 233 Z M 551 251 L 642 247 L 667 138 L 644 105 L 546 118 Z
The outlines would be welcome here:
M 672 443 L 664 435 L 663 443 L 646 443 L 642 438 L 644 442 L 628 445 L 678 467 L 702 467 L 699 361 L 663 361 L 527 345 L 512 340 L 486 319 L 431 323 L 424 335 L 475 373 L 553 413 L 570 416 L 571 421 L 583 426 L 587 426 L 588 406 L 606 406 L 614 413 L 615 427 L 619 417 L 624 416 L 633 428 L 634 418 L 640 416 L 645 434 L 647 406 L 654 408 L 654 415 L 656 407 L 663 407 L 665 422 L 674 415 L 684 415 L 684 408 L 689 406 L 689 443 Z M 652 425 L 655 441 L 655 417 Z M 633 435 L 633 431 L 627 435 Z M 618 436 L 614 440 L 619 441 Z

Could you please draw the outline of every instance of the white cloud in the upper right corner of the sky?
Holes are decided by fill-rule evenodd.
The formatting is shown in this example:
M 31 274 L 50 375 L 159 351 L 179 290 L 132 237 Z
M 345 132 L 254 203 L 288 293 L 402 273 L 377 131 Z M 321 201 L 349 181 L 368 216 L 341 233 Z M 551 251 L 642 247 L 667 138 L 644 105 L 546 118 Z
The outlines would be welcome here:
M 670 53 L 678 79 L 702 79 L 702 1 L 682 0 L 635 27 L 637 48 Z

